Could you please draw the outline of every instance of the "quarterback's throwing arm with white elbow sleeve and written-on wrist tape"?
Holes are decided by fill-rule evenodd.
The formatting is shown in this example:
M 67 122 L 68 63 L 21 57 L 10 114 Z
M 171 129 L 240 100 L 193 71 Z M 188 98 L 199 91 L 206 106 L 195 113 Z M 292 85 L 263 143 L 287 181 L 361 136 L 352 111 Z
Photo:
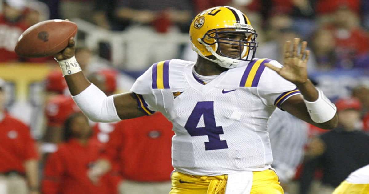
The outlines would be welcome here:
M 73 58 L 74 54 L 75 40 L 70 38 L 68 47 L 54 57 L 60 64 L 61 61 Z M 145 115 L 138 108 L 134 93 L 127 92 L 107 97 L 87 80 L 82 71 L 68 74 L 68 70 L 73 71 L 72 68 L 71 65 L 69 69 L 62 67 L 63 74 L 73 99 L 89 119 L 95 122 L 113 122 Z

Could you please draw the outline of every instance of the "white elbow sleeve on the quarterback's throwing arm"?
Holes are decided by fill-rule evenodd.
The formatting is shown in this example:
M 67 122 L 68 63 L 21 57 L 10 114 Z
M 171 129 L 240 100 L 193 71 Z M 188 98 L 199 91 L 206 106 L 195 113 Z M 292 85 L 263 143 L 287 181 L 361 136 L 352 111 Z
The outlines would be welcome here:
M 114 95 L 107 97 L 93 84 L 72 97 L 82 112 L 94 122 L 107 123 L 121 120 L 115 109 Z

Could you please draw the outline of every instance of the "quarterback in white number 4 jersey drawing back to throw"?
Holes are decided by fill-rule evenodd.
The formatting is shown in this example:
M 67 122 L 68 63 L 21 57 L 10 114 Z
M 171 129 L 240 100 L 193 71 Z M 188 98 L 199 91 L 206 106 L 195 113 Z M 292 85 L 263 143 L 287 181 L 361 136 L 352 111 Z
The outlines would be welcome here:
M 173 123 L 170 194 L 282 194 L 270 167 L 268 119 L 275 108 L 324 129 L 338 120 L 335 106 L 308 79 L 307 42 L 287 41 L 282 65 L 254 58 L 256 38 L 241 11 L 210 8 L 190 26 L 196 62 L 155 63 L 131 92 L 108 97 L 81 72 L 73 38 L 55 58 L 73 99 L 91 120 L 113 122 L 160 111 Z M 98 164 L 109 169 L 103 161 Z

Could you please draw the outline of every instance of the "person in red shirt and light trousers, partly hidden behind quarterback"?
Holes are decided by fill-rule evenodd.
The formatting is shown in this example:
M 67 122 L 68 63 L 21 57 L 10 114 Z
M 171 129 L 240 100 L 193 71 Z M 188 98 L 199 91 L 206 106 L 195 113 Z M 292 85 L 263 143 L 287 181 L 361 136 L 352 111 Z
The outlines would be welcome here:
M 110 133 L 106 159 L 90 170 L 90 178 L 96 180 L 117 161 L 125 179 L 120 194 L 169 193 L 173 135 L 172 123 L 161 113 L 118 122 Z

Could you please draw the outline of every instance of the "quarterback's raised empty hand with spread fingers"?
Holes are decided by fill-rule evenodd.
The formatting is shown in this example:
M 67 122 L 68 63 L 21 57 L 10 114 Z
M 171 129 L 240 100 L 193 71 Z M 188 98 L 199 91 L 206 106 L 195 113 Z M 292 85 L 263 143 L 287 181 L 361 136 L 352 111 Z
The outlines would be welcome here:
M 306 50 L 307 42 L 301 42 L 301 51 L 297 52 L 300 44 L 300 38 L 293 39 L 291 50 L 291 41 L 286 41 L 283 47 L 283 67 L 278 68 L 272 64 L 266 63 L 265 66 L 276 71 L 280 76 L 294 84 L 304 84 L 308 81 L 307 61 L 310 51 Z

